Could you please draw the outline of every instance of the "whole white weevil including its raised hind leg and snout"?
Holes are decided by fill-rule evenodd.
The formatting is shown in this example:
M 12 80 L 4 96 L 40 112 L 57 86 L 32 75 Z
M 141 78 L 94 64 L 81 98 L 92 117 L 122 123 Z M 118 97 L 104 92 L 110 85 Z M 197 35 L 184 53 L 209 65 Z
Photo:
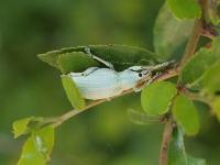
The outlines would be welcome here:
M 82 98 L 90 100 L 109 99 L 125 90 L 140 91 L 160 76 L 161 70 L 174 62 L 165 62 L 155 66 L 132 66 L 122 72 L 116 72 L 113 65 L 92 55 L 89 47 L 85 52 L 91 58 L 105 64 L 106 68 L 89 67 L 82 73 L 70 73 L 68 76 L 76 84 Z M 140 82 L 144 84 L 139 87 Z

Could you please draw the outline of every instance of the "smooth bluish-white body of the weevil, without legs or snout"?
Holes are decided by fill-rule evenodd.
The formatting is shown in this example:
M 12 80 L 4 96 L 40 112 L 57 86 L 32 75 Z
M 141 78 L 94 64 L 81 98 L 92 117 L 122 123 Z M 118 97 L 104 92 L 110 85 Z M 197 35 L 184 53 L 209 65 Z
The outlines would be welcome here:
M 132 70 L 134 66 L 123 72 L 110 68 L 88 68 L 84 73 L 70 73 L 69 76 L 78 87 L 82 98 L 90 100 L 108 99 L 124 90 L 134 89 L 142 75 Z M 148 73 L 145 72 L 145 76 Z

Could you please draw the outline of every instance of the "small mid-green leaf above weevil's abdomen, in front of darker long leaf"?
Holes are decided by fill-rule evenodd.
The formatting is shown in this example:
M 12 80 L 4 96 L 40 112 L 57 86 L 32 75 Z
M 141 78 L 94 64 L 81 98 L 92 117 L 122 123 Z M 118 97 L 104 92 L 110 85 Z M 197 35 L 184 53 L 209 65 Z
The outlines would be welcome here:
M 57 61 L 63 74 L 70 72 L 86 70 L 88 67 L 99 66 L 100 64 L 91 59 L 87 54 L 82 52 L 72 52 L 62 54 Z

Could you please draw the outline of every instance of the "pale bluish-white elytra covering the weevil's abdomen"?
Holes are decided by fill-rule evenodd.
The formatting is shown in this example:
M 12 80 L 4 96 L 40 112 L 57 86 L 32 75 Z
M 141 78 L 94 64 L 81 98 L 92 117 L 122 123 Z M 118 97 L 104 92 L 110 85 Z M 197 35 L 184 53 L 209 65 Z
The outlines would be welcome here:
M 75 73 L 69 76 L 85 99 L 106 99 L 123 91 L 119 73 L 110 68 L 98 68 L 86 76 L 75 76 Z

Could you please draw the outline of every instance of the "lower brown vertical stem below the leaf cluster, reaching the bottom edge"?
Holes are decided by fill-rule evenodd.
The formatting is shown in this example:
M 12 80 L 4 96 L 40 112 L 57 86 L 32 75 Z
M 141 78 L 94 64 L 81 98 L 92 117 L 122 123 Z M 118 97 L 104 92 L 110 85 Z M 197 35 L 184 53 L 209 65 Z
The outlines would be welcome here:
M 173 122 L 169 120 L 166 121 L 163 132 L 162 145 L 161 145 L 161 154 L 160 154 L 160 165 L 167 165 L 167 155 L 168 155 L 168 146 L 172 139 L 173 133 Z

